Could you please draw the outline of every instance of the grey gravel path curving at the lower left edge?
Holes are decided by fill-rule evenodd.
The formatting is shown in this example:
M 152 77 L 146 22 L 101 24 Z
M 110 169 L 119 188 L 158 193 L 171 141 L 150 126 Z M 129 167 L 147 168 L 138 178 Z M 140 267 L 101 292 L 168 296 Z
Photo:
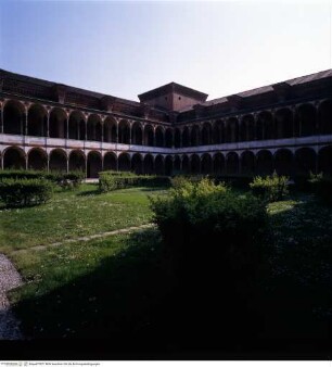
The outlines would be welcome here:
M 0 254 L 0 340 L 24 339 L 20 322 L 10 308 L 5 293 L 22 284 L 22 279 L 10 260 Z

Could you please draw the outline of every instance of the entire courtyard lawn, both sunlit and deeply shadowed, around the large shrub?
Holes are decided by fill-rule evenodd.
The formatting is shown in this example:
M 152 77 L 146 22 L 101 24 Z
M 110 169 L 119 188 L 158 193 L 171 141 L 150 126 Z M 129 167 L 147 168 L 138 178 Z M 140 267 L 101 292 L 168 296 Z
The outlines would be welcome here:
M 97 194 L 93 187 L 85 186 L 80 192 L 58 193 L 54 202 L 43 207 L 50 213 L 47 220 L 31 220 L 31 213 L 36 219 L 40 215 L 37 207 L 0 213 L 8 224 L 1 231 L 1 251 L 7 251 L 25 280 L 24 286 L 11 291 L 9 296 L 26 334 L 101 338 L 112 340 L 112 347 L 122 344 L 128 349 L 143 344 L 153 349 L 169 342 L 179 346 L 193 340 L 202 349 L 213 344 L 208 334 L 197 338 L 187 329 L 192 325 L 194 330 L 196 322 L 208 320 L 209 315 L 194 314 L 188 324 L 183 322 L 182 316 L 189 309 L 180 311 L 181 294 L 179 296 L 174 279 L 165 271 L 157 230 L 39 251 L 28 249 L 40 241 L 146 223 L 151 220 L 146 193 L 151 190 L 138 188 Z M 82 214 L 76 213 L 81 206 L 87 206 Z M 332 318 L 332 208 L 311 195 L 297 194 L 270 203 L 268 213 L 274 249 L 271 274 L 264 280 L 264 294 L 250 302 L 248 307 L 254 309 L 251 315 L 256 315 L 250 334 L 260 342 L 299 338 L 318 340 L 323 345 L 321 341 L 328 340 Z M 23 218 L 21 225 L 17 218 Z M 69 220 L 67 228 L 52 228 L 58 220 L 62 226 Z M 81 222 L 87 227 L 76 228 Z M 34 223 L 34 230 L 27 230 L 28 223 Z M 16 240 L 11 239 L 4 245 L 3 233 Z M 17 239 L 23 238 L 28 239 L 27 251 L 14 252 Z M 222 283 L 216 292 L 224 295 Z M 200 296 L 195 294 L 193 300 Z M 208 302 L 206 300 L 207 305 Z M 232 300 L 227 302 L 232 305 Z M 226 322 L 219 339 L 214 339 L 216 345 L 220 344 L 220 338 L 231 340 L 226 331 L 227 322 L 232 328 L 247 317 L 241 307 L 243 305 L 237 305 L 237 312 L 230 313 L 220 311 L 220 315 L 225 313 Z M 305 347 L 301 353 L 306 353 Z

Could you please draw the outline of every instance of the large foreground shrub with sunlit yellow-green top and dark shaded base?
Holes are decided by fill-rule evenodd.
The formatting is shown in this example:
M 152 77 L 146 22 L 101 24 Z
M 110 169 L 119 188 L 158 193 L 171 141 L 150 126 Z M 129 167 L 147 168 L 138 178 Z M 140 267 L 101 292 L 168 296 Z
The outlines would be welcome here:
M 209 179 L 187 180 L 166 197 L 150 198 L 173 270 L 180 278 L 221 274 L 241 278 L 259 268 L 264 251 L 264 203 L 251 193 L 238 195 Z M 243 277 L 242 277 L 243 279 Z M 193 281 L 193 280 L 192 280 Z

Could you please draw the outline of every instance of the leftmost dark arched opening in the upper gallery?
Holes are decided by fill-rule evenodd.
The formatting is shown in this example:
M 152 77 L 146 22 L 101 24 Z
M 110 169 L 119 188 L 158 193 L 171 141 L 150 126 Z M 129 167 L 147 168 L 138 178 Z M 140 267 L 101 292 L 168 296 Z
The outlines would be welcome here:
M 3 107 L 3 132 L 23 135 L 25 110 L 18 101 L 9 101 Z

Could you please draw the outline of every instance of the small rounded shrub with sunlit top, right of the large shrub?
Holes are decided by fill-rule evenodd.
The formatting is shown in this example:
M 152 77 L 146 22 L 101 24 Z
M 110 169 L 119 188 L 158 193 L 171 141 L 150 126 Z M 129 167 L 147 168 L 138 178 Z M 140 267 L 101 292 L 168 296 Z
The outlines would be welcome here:
M 274 172 L 271 176 L 254 178 L 250 184 L 254 195 L 263 200 L 272 202 L 282 200 L 289 193 L 288 190 L 289 177 L 278 176 Z

